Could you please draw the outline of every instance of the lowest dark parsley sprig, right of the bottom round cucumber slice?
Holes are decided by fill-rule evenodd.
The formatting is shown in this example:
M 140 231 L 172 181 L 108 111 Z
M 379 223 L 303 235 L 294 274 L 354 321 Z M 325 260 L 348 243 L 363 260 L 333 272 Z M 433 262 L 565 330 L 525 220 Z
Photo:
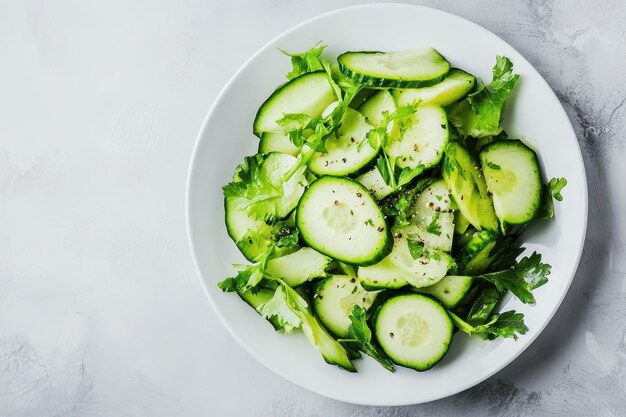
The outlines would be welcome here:
M 449 313 L 459 330 L 470 336 L 476 335 L 483 339 L 504 337 L 517 340 L 518 334 L 523 335 L 528 331 L 528 327 L 524 324 L 524 315 L 515 312 L 515 310 L 494 314 L 487 323 L 477 326 L 472 326 L 451 311 Z

